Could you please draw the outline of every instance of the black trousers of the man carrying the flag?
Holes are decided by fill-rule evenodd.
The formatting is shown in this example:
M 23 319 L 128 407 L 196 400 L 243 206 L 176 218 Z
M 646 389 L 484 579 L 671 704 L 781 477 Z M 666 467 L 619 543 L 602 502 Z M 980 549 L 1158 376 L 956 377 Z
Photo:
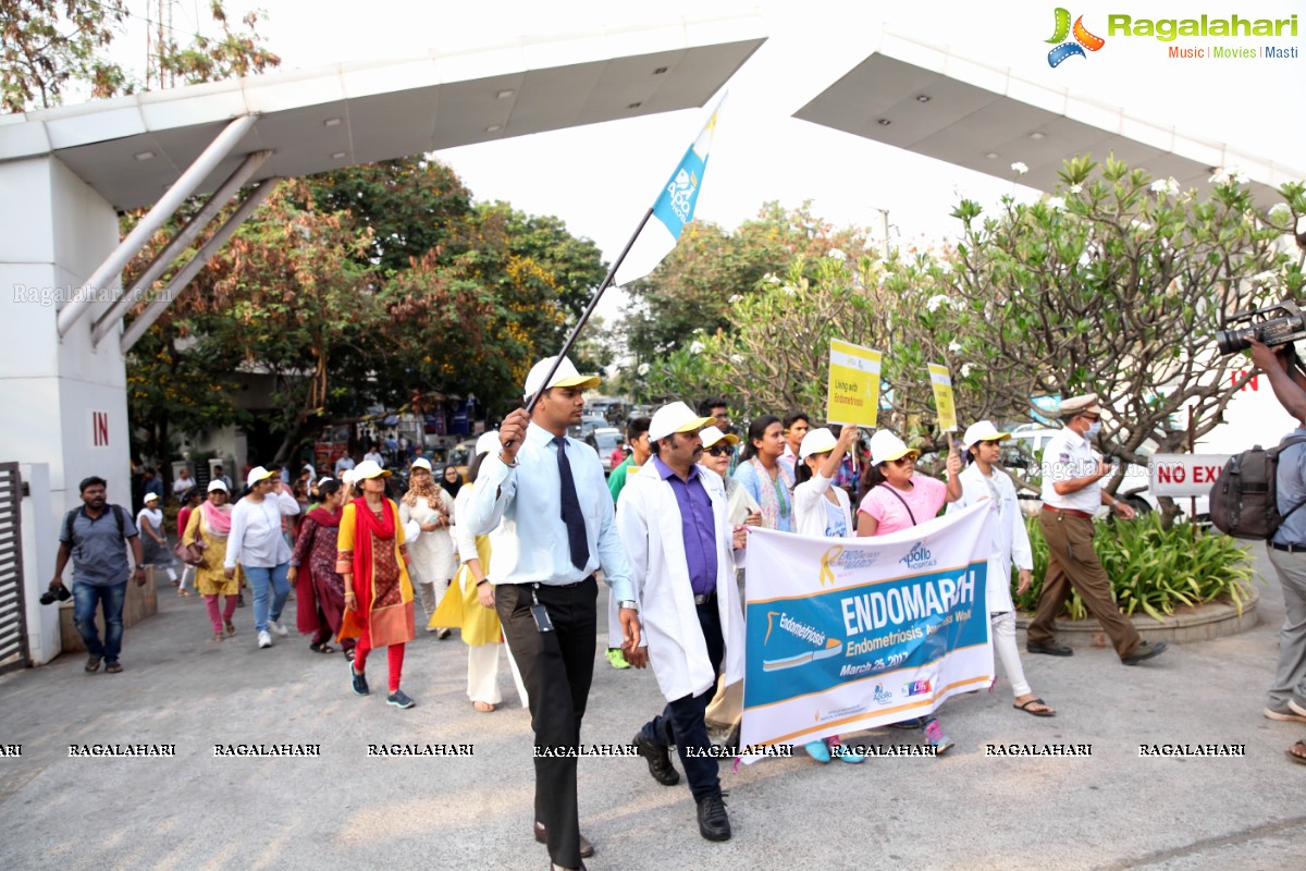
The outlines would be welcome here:
M 541 632 L 530 614 L 532 593 L 549 610 L 552 632 Z M 495 588 L 495 610 L 508 639 L 521 682 L 530 696 L 535 747 L 579 750 L 580 722 L 594 679 L 598 584 L 589 577 L 572 586 L 532 589 L 529 584 Z M 580 867 L 580 812 L 576 806 L 576 756 L 535 757 L 535 820 L 549 837 L 549 857 L 564 868 Z

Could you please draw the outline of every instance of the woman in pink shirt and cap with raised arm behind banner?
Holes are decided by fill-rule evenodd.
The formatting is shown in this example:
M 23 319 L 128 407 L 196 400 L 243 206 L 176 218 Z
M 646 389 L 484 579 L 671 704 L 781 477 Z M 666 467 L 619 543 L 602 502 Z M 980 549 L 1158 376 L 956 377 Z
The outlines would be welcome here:
M 916 474 L 916 460 L 921 453 L 906 447 L 902 439 L 888 430 L 871 436 L 871 464 L 866 469 L 862 504 L 857 508 L 857 535 L 888 535 L 917 524 L 932 520 L 944 503 L 961 498 L 961 457 L 948 452 L 948 483 Z M 943 726 L 932 714 L 922 721 L 895 723 L 913 729 L 923 727 L 926 738 L 942 756 L 953 742 L 943 733 Z

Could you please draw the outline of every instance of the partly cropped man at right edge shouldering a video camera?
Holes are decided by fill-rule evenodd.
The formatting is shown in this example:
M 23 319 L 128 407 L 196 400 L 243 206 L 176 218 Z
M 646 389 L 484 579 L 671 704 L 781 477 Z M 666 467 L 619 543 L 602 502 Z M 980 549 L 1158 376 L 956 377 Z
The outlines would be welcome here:
M 1298 420 L 1284 440 L 1306 437 L 1306 373 L 1292 343 L 1267 347 L 1249 338 L 1251 362 L 1269 379 L 1279 404 Z M 1267 720 L 1306 722 L 1306 443 L 1289 444 L 1279 454 L 1275 477 L 1282 525 L 1267 542 L 1269 562 L 1284 592 L 1284 628 L 1279 633 L 1279 667 L 1269 686 Z M 1288 759 L 1306 765 L 1306 740 L 1288 751 Z

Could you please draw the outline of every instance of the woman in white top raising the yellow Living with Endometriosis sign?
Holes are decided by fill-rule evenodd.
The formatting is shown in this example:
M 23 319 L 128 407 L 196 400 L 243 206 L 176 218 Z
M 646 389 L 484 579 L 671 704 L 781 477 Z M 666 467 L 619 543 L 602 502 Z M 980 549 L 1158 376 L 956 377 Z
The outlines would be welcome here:
M 827 427 L 811 430 L 798 447 L 798 465 L 794 466 L 798 486 L 794 487 L 794 531 L 815 538 L 850 538 L 853 512 L 848 494 L 832 486 L 844 454 L 857 439 L 857 427 L 845 426 L 835 437 Z M 831 735 L 803 746 L 818 763 L 828 763 L 837 756 L 845 763 L 866 760 L 844 747 L 838 735 Z

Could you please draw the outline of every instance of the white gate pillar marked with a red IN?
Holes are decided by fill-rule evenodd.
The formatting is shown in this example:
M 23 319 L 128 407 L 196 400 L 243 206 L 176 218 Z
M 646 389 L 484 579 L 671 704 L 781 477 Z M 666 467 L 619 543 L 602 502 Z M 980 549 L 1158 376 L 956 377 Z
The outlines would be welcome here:
M 48 469 L 47 478 L 29 482 L 47 491 L 44 516 L 29 518 L 24 500 L 25 529 L 29 522 L 48 529 L 48 537 L 24 535 L 27 601 L 35 602 L 54 571 L 54 552 L 40 551 L 55 546 L 63 513 L 81 504 L 77 482 L 99 475 L 110 501 L 131 507 L 121 351 L 118 342 L 91 345 L 94 317 L 63 341 L 55 325 L 60 306 L 118 245 L 118 214 L 56 157 L 0 163 L 0 460 Z M 119 289 L 120 281 L 91 289 L 93 315 L 106 311 Z M 30 610 L 27 616 L 30 632 Z M 40 661 L 50 658 L 47 646 L 40 641 Z

